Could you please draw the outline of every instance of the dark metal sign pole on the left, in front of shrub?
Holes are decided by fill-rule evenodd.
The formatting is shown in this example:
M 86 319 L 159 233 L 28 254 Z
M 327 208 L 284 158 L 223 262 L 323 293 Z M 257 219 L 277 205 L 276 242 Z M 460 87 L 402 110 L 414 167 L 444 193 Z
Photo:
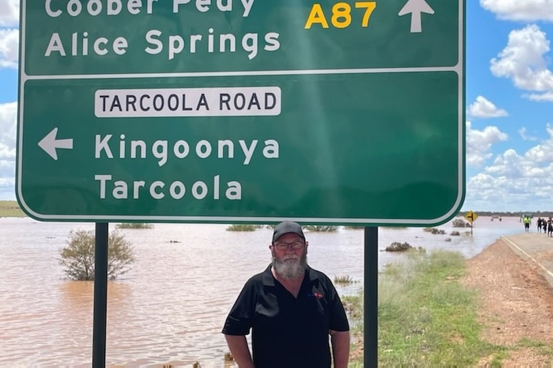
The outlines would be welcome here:
M 94 259 L 94 320 L 92 367 L 106 366 L 106 320 L 108 299 L 108 223 L 96 223 Z

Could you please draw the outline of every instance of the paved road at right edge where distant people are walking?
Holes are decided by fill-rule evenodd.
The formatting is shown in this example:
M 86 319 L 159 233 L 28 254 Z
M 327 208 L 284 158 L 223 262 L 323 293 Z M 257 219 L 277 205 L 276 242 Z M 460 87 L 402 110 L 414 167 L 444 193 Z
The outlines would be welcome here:
M 544 233 L 521 233 L 501 238 L 521 258 L 536 264 L 553 285 L 553 238 Z

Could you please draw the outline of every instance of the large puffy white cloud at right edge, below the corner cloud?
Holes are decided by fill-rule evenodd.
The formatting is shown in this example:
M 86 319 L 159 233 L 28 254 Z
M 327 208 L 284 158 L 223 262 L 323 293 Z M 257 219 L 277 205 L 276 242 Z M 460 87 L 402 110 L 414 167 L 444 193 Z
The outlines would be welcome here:
M 553 72 L 547 69 L 544 57 L 549 51 L 550 41 L 535 24 L 512 30 L 507 46 L 497 59 L 491 59 L 490 70 L 496 77 L 512 79 L 518 88 L 550 92 L 553 91 Z

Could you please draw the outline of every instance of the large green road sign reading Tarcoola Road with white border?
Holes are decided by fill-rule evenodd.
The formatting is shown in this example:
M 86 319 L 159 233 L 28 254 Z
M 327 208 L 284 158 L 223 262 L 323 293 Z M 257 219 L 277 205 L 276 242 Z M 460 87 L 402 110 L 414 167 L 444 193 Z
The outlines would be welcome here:
M 17 198 L 38 220 L 425 225 L 462 205 L 462 0 L 21 8 Z

